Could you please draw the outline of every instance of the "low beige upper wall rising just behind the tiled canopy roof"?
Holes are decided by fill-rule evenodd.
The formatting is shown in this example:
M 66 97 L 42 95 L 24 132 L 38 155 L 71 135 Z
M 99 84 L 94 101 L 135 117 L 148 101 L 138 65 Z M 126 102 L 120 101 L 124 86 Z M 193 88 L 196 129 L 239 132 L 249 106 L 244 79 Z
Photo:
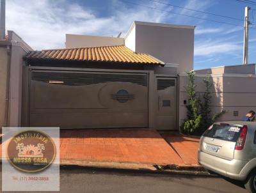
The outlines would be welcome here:
M 66 48 L 124 45 L 124 38 L 66 34 Z

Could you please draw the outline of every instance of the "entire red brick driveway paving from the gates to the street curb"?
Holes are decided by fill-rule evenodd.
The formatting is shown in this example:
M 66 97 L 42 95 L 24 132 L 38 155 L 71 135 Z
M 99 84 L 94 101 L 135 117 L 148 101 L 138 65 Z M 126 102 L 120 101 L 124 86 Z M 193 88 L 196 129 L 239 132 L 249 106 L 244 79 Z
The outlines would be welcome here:
M 60 160 L 194 166 L 198 141 L 147 128 L 61 130 Z

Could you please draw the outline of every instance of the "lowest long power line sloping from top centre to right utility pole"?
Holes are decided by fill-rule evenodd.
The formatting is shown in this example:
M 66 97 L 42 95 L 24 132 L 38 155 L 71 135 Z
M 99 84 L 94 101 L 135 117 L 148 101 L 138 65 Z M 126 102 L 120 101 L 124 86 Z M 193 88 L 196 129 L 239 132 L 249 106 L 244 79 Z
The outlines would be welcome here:
M 177 13 L 177 12 L 172 12 L 172 11 L 166 11 L 166 10 L 161 10 L 159 8 L 154 8 L 152 6 L 147 6 L 147 5 L 144 5 L 144 4 L 138 4 L 138 3 L 131 3 L 129 1 L 124 1 L 124 0 L 117 0 L 117 1 L 122 1 L 122 2 L 125 2 L 125 3 L 128 3 L 128 4 L 134 4 L 134 5 L 137 5 L 137 6 L 143 6 L 143 7 L 146 7 L 146 8 L 150 8 L 150 9 L 154 9 L 154 10 L 159 10 L 161 12 L 168 12 L 168 13 L 173 13 L 173 14 L 176 14 L 176 15 L 182 15 L 182 16 L 185 16 L 185 17 L 192 17 L 192 18 L 195 18 L 195 19 L 200 19 L 200 20 L 207 20 L 207 21 L 210 21 L 210 22 L 217 22 L 217 23 L 221 23 L 221 24 L 227 24 L 227 25 L 231 25 L 231 26 L 240 26 L 240 27 L 243 27 L 241 25 L 238 25 L 238 24 L 232 24 L 232 23 L 228 23 L 228 22 L 221 22 L 219 20 L 211 20 L 211 19 L 204 19 L 202 17 L 195 17 L 195 16 L 192 16 L 192 15 L 186 15 L 186 14 L 182 14 L 182 13 Z

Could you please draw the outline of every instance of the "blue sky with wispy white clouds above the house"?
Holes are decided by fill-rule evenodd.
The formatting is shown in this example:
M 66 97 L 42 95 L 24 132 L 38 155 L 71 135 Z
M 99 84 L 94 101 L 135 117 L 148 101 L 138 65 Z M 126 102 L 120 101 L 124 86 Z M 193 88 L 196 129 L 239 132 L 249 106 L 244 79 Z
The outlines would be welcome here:
M 195 69 L 242 63 L 243 27 L 240 26 L 243 26 L 243 21 L 175 8 L 154 1 L 124 1 L 7 0 L 6 28 L 18 33 L 33 49 L 40 50 L 65 47 L 66 33 L 117 36 L 118 33 L 122 32 L 122 36 L 124 36 L 133 20 L 192 25 L 196 26 Z M 237 19 L 244 18 L 244 7 L 246 6 L 246 4 L 235 0 L 156 1 Z M 248 6 L 255 9 L 250 11 L 250 20 L 256 23 L 256 6 L 250 4 Z M 164 10 L 164 12 L 160 10 Z M 192 17 L 173 14 L 172 12 Z M 193 17 L 219 20 L 239 26 Z M 256 26 L 252 27 L 255 29 L 250 30 L 249 62 L 256 63 Z

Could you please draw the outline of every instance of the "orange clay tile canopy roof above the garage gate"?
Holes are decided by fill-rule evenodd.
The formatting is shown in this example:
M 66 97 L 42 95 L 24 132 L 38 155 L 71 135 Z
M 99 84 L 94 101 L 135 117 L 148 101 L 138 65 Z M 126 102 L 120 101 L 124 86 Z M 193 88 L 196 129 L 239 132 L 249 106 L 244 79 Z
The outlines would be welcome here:
M 164 65 L 156 58 L 153 58 L 148 54 L 134 53 L 124 45 L 31 51 L 25 58 L 40 60 L 54 59 L 60 61 L 111 61 L 119 63 Z

